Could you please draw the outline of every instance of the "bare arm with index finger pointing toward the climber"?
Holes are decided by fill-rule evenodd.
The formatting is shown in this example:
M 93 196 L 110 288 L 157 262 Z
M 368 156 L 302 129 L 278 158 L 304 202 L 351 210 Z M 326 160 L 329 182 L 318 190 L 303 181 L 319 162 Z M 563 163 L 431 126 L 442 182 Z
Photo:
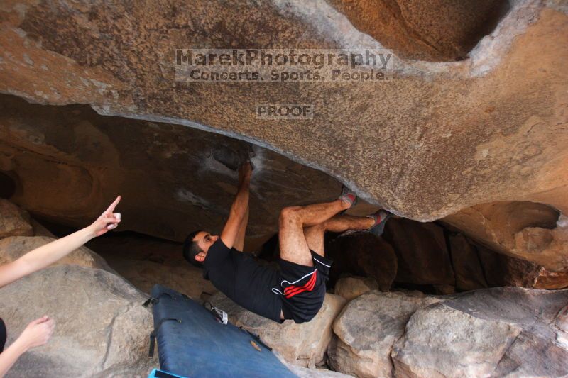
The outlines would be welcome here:
M 65 236 L 58 240 L 39 248 L 35 248 L 31 252 L 26 253 L 18 260 L 9 262 L 0 266 L 0 287 L 16 281 L 33 272 L 48 267 L 54 262 L 65 257 L 70 252 L 80 248 L 84 243 L 96 236 L 107 233 L 108 230 L 116 228 L 120 223 L 120 213 L 113 213 L 116 205 L 119 204 L 120 196 L 109 206 L 109 209 L 102 213 L 92 225 L 78 230 L 71 235 Z

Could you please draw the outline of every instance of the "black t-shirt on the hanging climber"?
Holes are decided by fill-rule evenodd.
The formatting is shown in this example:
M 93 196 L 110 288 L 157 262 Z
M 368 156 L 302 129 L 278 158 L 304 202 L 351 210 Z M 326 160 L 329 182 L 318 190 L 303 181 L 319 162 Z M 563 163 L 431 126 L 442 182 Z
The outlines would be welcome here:
M 219 238 L 207 252 L 203 277 L 236 304 L 280 323 L 282 301 L 273 293 L 279 284 L 278 272 L 263 267 L 246 252 L 229 249 Z

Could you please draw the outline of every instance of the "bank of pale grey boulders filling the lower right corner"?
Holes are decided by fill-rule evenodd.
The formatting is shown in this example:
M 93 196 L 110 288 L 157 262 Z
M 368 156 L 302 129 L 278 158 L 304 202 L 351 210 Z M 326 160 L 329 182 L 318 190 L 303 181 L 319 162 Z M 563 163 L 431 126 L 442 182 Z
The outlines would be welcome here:
M 357 377 L 563 377 L 567 303 L 567 290 L 369 291 L 335 321 L 329 365 Z

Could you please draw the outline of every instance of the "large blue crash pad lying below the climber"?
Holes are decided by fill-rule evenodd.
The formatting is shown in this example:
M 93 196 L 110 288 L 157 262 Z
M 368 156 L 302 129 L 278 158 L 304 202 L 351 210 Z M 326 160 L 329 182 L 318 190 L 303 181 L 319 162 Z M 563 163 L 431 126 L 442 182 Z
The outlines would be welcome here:
M 159 284 L 151 295 L 155 299 L 154 330 L 158 330 L 156 345 L 163 371 L 191 378 L 295 377 L 246 330 L 219 323 L 196 301 Z

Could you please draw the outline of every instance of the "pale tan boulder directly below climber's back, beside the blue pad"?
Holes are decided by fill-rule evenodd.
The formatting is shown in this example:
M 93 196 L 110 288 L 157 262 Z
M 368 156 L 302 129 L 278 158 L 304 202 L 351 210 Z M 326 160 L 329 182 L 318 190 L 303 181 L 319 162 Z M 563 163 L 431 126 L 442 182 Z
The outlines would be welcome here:
M 324 362 L 327 345 L 332 339 L 333 321 L 346 303 L 341 296 L 326 294 L 320 312 L 311 321 L 296 324 L 288 320 L 279 324 L 246 311 L 222 293 L 215 294 L 209 301 L 226 311 L 231 323 L 259 335 L 263 343 L 286 361 L 310 368 Z

